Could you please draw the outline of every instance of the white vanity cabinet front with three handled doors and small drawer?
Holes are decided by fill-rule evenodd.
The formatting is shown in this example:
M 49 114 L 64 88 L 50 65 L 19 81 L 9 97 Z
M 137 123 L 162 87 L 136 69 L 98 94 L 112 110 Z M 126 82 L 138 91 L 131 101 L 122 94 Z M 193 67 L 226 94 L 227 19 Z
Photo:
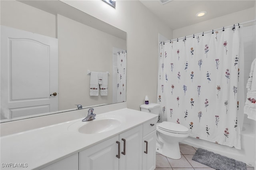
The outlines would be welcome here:
M 79 152 L 79 170 L 154 170 L 155 119 Z

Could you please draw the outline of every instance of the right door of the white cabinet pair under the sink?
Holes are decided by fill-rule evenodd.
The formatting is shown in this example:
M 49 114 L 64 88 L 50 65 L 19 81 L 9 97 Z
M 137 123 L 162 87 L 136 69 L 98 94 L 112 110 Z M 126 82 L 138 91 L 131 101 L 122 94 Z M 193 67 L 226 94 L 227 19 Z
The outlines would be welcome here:
M 142 169 L 142 125 L 119 135 L 121 155 L 120 170 Z M 125 147 L 124 147 L 125 146 Z

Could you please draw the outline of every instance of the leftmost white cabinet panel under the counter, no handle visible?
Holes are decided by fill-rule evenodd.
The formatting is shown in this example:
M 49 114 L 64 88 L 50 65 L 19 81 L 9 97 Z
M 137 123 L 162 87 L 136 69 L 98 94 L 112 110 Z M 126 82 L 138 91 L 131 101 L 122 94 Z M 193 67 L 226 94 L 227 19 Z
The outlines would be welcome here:
M 46 166 L 41 170 L 78 170 L 78 153 Z

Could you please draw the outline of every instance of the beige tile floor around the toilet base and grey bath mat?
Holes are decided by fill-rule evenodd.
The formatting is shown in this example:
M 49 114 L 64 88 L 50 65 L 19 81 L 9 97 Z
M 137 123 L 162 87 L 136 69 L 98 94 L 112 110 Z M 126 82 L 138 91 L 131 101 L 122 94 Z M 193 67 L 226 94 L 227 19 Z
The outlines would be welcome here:
M 180 143 L 181 158 L 178 160 L 167 158 L 156 152 L 155 170 L 214 170 L 209 166 L 192 160 L 196 149 L 197 148 Z M 247 170 L 254 170 L 254 168 L 247 166 Z

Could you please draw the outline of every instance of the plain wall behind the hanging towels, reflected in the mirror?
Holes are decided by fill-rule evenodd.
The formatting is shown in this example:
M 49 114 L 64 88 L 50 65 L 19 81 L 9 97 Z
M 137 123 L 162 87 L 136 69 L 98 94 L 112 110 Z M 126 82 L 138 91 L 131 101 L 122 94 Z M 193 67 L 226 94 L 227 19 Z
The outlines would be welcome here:
M 59 110 L 112 103 L 113 47 L 126 41 L 64 16 L 57 16 L 59 40 Z M 90 96 L 90 71 L 108 71 L 108 95 Z M 116 87 L 116 86 L 114 86 Z

